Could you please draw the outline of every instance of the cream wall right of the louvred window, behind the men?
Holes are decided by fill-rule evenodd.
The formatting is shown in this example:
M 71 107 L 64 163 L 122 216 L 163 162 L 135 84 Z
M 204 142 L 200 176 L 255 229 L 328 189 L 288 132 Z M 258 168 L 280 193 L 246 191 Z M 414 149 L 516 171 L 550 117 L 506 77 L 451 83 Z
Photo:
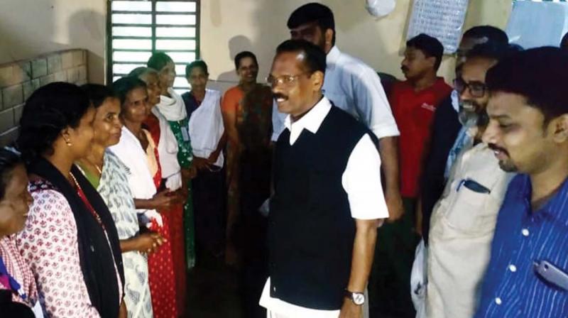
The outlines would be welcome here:
M 236 82 L 232 57 L 241 50 L 256 53 L 266 77 L 278 43 L 289 38 L 286 21 L 305 0 L 202 0 L 201 57 L 210 67 L 212 86 L 226 88 Z M 400 56 L 410 16 L 411 0 L 396 0 L 393 13 L 374 18 L 364 0 L 318 1 L 334 11 L 337 45 L 374 69 L 402 78 Z M 511 0 L 470 0 L 465 28 L 491 24 L 505 28 Z M 454 60 L 444 58 L 439 74 L 453 78 Z

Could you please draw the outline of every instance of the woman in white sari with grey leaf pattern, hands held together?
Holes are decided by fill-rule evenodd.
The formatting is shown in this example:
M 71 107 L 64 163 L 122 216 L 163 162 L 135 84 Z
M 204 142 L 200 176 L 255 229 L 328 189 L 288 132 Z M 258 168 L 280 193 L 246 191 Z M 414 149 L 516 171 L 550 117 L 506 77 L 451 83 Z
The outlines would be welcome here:
M 120 99 L 103 85 L 86 84 L 82 89 L 89 95 L 97 113 L 93 121 L 92 147 L 77 165 L 107 203 L 119 232 L 124 261 L 124 303 L 128 316 L 151 318 L 153 311 L 148 285 L 148 261 L 143 254 L 157 250 L 163 238 L 158 233 L 139 232 L 126 165 L 111 150 L 107 150 L 120 141 Z

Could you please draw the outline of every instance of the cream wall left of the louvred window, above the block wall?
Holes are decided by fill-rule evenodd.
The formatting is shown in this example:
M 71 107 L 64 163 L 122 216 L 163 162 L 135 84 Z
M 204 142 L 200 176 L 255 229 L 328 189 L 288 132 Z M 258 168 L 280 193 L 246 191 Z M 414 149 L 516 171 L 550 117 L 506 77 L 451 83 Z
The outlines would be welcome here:
M 0 64 L 68 48 L 89 50 L 89 81 L 104 82 L 105 0 L 1 0 Z

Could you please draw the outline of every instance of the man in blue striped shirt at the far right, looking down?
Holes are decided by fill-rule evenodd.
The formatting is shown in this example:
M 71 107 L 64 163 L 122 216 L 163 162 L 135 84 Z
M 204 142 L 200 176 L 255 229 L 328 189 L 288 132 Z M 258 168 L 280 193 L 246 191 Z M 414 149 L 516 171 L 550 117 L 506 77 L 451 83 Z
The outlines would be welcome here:
M 501 60 L 486 84 L 484 141 L 519 172 L 499 212 L 476 317 L 568 317 L 568 53 Z

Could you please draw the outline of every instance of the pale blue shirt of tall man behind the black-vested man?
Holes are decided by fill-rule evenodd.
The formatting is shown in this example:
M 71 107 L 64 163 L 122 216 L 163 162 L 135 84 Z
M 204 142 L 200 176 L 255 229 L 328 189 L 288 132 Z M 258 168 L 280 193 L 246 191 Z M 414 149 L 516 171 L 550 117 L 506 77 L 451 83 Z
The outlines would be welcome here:
M 337 46 L 329 50 L 326 60 L 325 97 L 361 121 L 377 138 L 400 135 L 377 73 L 361 60 L 339 51 Z M 272 140 L 276 141 L 284 130 L 285 115 L 273 108 L 272 119 Z

